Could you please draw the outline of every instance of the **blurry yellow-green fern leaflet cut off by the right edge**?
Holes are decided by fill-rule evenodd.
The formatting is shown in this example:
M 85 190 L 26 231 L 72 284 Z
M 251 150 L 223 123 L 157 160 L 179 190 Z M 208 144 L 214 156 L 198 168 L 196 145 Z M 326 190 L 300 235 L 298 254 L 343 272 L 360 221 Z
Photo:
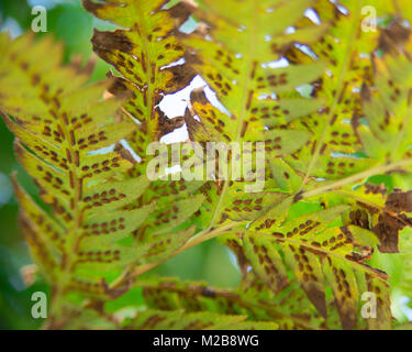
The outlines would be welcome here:
M 411 48 L 409 40 L 402 48 L 388 47 L 383 57 L 375 56 L 375 85 L 363 89 L 367 123 L 357 131 L 368 155 L 381 162 L 411 157 Z

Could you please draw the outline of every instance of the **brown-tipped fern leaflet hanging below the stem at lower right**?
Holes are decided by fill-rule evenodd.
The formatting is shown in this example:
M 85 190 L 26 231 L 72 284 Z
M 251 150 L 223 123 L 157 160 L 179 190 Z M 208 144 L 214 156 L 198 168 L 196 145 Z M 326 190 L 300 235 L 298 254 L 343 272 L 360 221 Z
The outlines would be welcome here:
M 357 322 L 359 294 L 354 271 L 378 280 L 387 278 L 385 273 L 366 265 L 359 257 L 359 245 L 352 233 L 336 227 L 348 209 L 348 206 L 337 206 L 283 223 L 270 221 L 266 226 L 267 219 L 256 228 L 256 232 L 243 235 L 245 254 L 256 274 L 277 292 L 278 287 L 268 282 L 276 280 L 279 273 L 285 273 L 286 264 L 324 318 L 327 315 L 325 287 L 329 284 L 345 329 L 354 328 Z M 253 248 L 248 244 L 250 242 Z M 265 243 L 266 249 L 260 243 Z M 250 257 L 250 252 L 256 258 Z M 283 256 L 285 264 L 281 260 Z

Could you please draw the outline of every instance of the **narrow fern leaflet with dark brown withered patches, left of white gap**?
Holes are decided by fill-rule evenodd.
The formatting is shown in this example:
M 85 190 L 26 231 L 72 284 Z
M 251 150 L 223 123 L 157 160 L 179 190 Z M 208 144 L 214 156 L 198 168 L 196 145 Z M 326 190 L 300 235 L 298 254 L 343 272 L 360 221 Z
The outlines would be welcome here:
M 178 29 L 190 15 L 192 4 L 181 1 L 169 7 L 168 1 L 85 0 L 83 6 L 97 18 L 122 26 L 114 32 L 96 30 L 92 43 L 94 52 L 122 75 L 114 77 L 109 91 L 114 96 L 132 94 L 123 110 L 129 119 L 137 122 L 134 134 L 127 136 L 127 143 L 140 157 L 138 162 L 129 157 L 134 164 L 129 177 L 134 179 L 146 175 L 153 160 L 147 153 L 151 143 L 185 123 L 182 118 L 168 119 L 158 105 L 165 95 L 180 90 L 193 78 L 193 70 L 185 63 L 191 58 L 177 41 Z M 118 147 L 121 153 L 129 153 Z M 167 177 L 152 180 L 142 199 L 127 206 L 134 209 L 156 202 L 155 211 L 140 231 L 134 232 L 137 242 L 152 248 L 146 262 L 166 260 L 194 233 L 194 228 L 178 227 L 187 222 L 203 201 L 201 195 L 193 195 L 199 186 L 183 180 L 170 182 Z M 190 202 L 189 197 L 193 197 Z M 168 237 L 167 232 L 175 229 L 178 233 Z

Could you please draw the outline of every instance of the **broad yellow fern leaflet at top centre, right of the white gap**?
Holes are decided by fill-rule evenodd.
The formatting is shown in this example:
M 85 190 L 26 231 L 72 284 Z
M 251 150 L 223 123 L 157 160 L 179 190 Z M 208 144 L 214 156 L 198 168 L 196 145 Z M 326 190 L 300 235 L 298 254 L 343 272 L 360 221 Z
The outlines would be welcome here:
M 198 59 L 192 66 L 215 91 L 225 110 L 213 107 L 203 92 L 193 91 L 192 114 L 186 117 L 191 140 L 265 142 L 265 150 L 272 157 L 296 152 L 310 139 L 310 132 L 286 130 L 286 124 L 315 111 L 321 102 L 299 95 L 292 95 L 293 99 L 282 100 L 275 95 L 291 94 L 296 87 L 318 79 L 323 72 L 323 65 L 314 63 L 298 67 L 270 68 L 270 63 L 281 58 L 280 47 L 289 45 L 297 37 L 301 37 L 304 43 L 316 41 L 325 30 L 324 25 L 312 24 L 304 28 L 309 30 L 307 36 L 303 31 L 286 33 L 287 28 L 300 20 L 304 10 L 314 2 L 202 3 L 208 10 L 199 10 L 196 14 L 210 30 L 204 32 L 204 26 L 200 26 L 183 38 L 183 43 L 192 47 Z M 289 15 L 286 16 L 285 13 Z M 233 37 L 237 38 L 236 43 Z M 192 116 L 199 117 L 200 121 Z M 267 155 L 267 158 L 270 156 Z M 270 173 L 261 176 L 267 176 L 268 179 Z M 236 190 L 244 187 L 244 182 L 247 183 L 248 179 L 209 183 L 202 189 L 208 202 L 200 209 L 199 223 L 207 228 L 226 218 L 254 219 L 281 198 L 265 193 L 240 196 Z M 265 186 L 276 187 L 272 183 Z

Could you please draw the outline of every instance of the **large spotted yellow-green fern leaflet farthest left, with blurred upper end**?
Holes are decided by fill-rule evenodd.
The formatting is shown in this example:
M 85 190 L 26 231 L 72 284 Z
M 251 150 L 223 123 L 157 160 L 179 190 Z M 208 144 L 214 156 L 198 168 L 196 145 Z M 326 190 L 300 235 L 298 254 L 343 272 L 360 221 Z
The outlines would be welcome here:
M 60 67 L 60 47 L 49 38 L 24 35 L 11 42 L 2 34 L 0 43 L 0 110 L 16 136 L 20 164 L 51 208 L 37 206 L 14 179 L 35 262 L 57 301 L 67 292 L 116 295 L 108 273 L 143 258 L 148 248 L 113 242 L 138 229 L 153 208 L 122 209 L 140 198 L 148 180 L 124 179 L 133 165 L 102 151 L 134 130 L 134 123 L 114 122 L 124 98 L 102 100 L 110 82 L 86 86 L 87 75 Z M 53 54 L 44 57 L 45 51 Z M 19 89 L 11 95 L 10 87 Z

